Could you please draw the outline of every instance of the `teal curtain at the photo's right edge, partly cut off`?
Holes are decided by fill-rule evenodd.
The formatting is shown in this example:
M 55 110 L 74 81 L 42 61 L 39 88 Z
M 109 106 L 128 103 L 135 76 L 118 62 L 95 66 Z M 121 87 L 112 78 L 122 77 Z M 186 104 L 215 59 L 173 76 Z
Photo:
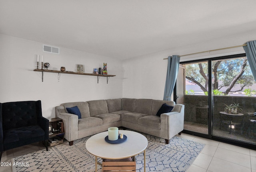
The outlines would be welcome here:
M 256 80 L 256 40 L 248 41 L 247 46 L 244 46 L 244 51 L 249 63 L 249 66 L 252 70 L 254 80 Z

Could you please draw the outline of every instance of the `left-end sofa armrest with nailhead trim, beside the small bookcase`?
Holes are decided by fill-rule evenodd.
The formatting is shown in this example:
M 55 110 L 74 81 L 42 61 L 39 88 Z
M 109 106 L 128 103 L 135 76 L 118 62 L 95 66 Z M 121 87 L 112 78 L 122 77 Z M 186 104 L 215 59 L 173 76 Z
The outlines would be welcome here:
M 55 107 L 55 115 L 63 120 L 66 140 L 74 141 L 78 139 L 78 115 L 63 113 L 64 106 Z

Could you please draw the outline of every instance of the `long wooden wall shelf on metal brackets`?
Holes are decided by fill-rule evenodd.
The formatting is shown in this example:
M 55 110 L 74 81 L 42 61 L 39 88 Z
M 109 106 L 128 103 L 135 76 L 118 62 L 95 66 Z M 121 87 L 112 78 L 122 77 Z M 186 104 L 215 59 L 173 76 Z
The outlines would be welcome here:
M 98 77 L 98 83 L 100 76 L 106 77 L 107 78 L 107 84 L 108 80 L 112 76 L 116 75 L 102 75 L 102 74 L 90 74 L 90 73 L 78 73 L 78 72 L 71 72 L 71 71 L 60 71 L 60 70 L 44 70 L 44 69 L 34 69 L 36 72 L 42 72 L 42 82 L 44 82 L 44 72 L 52 72 L 52 73 L 58 73 L 58 82 L 60 82 L 60 74 L 80 74 L 80 75 L 91 75 L 91 76 L 97 76 Z

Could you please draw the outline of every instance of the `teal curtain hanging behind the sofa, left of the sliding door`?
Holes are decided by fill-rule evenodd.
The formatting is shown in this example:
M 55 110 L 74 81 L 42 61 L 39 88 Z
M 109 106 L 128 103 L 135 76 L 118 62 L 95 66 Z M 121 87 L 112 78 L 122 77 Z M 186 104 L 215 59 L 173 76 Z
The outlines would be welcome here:
M 164 100 L 171 100 L 171 95 L 175 86 L 175 82 L 178 75 L 180 65 L 180 57 L 178 55 L 173 55 L 168 57 L 168 67 L 164 88 Z

